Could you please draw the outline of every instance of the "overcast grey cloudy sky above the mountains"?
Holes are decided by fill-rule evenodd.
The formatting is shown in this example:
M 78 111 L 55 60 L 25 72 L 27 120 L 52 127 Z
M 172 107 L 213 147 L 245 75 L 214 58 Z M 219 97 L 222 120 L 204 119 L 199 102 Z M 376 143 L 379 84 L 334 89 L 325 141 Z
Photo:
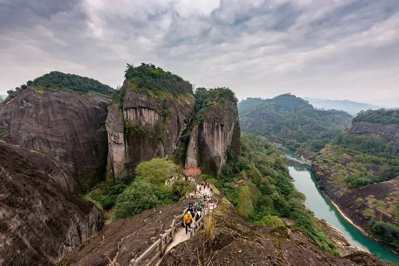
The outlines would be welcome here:
M 0 94 L 52 70 L 116 87 L 153 63 L 239 99 L 399 106 L 399 0 L 0 0 Z

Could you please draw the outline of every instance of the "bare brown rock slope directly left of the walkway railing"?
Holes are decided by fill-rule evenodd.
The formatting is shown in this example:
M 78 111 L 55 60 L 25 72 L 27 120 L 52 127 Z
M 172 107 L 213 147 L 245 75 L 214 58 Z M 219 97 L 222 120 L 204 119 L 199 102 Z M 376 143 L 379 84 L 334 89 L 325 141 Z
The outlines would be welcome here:
M 160 234 L 170 229 L 173 215 L 181 215 L 188 202 L 158 206 L 113 222 L 75 248 L 62 262 L 68 266 L 100 266 L 109 263 L 108 257 L 115 259 L 120 266 L 128 266 L 134 256 L 146 250 Z

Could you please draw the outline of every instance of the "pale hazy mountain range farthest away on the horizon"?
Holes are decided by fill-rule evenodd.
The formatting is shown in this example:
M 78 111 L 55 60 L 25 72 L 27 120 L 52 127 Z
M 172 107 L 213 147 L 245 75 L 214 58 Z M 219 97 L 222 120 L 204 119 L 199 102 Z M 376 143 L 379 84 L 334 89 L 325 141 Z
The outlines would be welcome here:
M 368 109 L 376 110 L 382 108 L 380 106 L 357 103 L 349 100 L 327 100 L 327 99 L 314 99 L 309 97 L 305 97 L 303 99 L 309 101 L 309 103 L 313 105 L 314 108 L 318 109 L 323 108 L 325 110 L 329 109 L 342 110 L 348 112 L 354 117 L 362 110 L 366 111 Z

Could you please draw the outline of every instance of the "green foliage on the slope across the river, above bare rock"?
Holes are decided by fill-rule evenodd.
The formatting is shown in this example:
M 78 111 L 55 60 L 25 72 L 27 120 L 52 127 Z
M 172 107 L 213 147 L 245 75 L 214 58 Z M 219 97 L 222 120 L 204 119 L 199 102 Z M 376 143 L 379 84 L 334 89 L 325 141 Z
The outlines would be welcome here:
M 331 173 L 332 186 L 349 189 L 390 180 L 399 175 L 399 145 L 379 135 L 339 134 L 316 156 L 317 174 Z

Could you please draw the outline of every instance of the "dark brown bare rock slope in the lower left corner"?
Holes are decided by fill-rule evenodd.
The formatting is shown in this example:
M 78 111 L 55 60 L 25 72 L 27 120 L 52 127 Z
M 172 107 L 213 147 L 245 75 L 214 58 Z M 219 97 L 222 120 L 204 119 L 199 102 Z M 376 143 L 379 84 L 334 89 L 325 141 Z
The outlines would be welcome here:
M 0 143 L 0 265 L 54 265 L 103 226 L 91 202 L 62 190 L 41 154 Z

